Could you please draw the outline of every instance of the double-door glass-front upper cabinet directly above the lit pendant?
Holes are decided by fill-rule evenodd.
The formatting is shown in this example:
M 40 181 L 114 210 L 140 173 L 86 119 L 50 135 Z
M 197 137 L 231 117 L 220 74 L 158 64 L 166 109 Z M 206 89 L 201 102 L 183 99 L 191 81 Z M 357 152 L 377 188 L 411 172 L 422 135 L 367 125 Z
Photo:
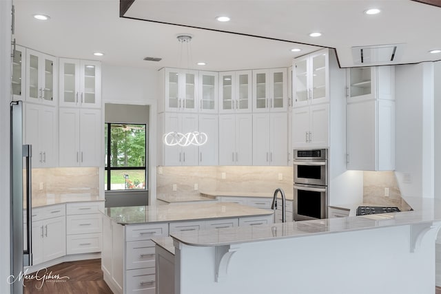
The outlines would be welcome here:
M 165 68 L 161 70 L 163 73 L 164 105 L 159 105 L 158 112 L 198 112 L 200 107 L 198 97 L 198 71 L 181 70 L 174 68 Z M 210 106 L 210 91 L 212 87 L 209 85 L 210 78 L 207 78 L 207 87 L 205 90 L 206 101 L 205 107 Z M 204 101 L 202 101 L 204 102 Z

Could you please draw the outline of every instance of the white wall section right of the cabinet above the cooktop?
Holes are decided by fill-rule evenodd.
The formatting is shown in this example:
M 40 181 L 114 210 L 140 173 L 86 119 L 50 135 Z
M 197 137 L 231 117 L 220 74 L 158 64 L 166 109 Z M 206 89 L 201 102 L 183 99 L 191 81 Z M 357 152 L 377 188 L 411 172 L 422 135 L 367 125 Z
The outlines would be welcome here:
M 396 66 L 396 176 L 402 196 L 433 198 L 433 63 Z

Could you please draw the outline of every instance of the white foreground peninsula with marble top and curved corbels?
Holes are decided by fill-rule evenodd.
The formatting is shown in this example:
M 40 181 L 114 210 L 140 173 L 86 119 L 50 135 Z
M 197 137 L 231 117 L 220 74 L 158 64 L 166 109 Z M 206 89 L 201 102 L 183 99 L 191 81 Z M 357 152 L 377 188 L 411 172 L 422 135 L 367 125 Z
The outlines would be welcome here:
M 406 200 L 414 211 L 171 233 L 175 293 L 433 294 L 441 201 Z

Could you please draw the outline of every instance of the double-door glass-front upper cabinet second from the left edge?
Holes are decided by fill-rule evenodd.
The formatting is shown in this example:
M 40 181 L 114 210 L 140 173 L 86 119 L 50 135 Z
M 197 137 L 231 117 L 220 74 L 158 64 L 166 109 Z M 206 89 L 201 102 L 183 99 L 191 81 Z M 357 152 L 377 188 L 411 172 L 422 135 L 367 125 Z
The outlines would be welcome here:
M 57 105 L 57 57 L 26 50 L 26 100 L 33 103 Z

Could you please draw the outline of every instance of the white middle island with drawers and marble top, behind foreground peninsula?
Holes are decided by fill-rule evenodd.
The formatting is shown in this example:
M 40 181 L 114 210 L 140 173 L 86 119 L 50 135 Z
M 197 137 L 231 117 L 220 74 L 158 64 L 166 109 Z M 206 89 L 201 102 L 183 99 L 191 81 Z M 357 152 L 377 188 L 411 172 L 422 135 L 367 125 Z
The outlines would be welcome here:
M 155 293 L 152 238 L 179 231 L 271 224 L 274 211 L 229 202 L 194 202 L 103 210 L 101 269 L 114 293 Z

